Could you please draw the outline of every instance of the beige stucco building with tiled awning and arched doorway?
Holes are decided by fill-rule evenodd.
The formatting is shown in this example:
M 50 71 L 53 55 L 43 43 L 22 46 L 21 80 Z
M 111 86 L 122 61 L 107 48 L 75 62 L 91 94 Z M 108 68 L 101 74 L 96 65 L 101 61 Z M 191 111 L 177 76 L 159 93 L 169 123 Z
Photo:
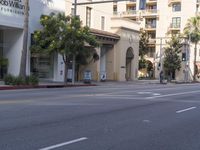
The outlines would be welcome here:
M 99 1 L 99 0 L 94 0 Z M 93 1 L 93 2 L 94 2 Z M 66 15 L 73 14 L 74 0 L 66 2 Z M 91 2 L 90 0 L 77 1 Z M 101 47 L 97 48 L 99 61 L 84 66 L 82 71 L 91 70 L 93 80 L 136 80 L 138 71 L 139 23 L 121 17 L 114 17 L 113 2 L 84 4 L 77 6 L 77 15 L 83 25 L 91 28 Z M 82 76 L 83 72 L 79 72 Z

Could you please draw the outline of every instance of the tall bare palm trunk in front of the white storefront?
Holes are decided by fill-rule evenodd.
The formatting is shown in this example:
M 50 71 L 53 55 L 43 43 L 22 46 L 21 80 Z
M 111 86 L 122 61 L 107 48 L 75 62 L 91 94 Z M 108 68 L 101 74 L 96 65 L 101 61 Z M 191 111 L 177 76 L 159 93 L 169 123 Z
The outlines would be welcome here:
M 19 76 L 22 78 L 26 77 L 26 60 L 28 51 L 28 24 L 29 24 L 29 0 L 25 0 L 25 11 L 24 11 L 24 36 L 23 36 L 23 49 L 21 55 L 20 72 Z

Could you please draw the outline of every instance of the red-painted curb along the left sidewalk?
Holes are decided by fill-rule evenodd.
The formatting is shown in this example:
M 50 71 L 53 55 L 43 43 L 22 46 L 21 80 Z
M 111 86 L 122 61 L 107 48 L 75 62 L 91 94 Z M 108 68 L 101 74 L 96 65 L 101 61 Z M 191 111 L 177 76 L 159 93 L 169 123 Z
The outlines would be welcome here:
M 67 88 L 67 87 L 84 87 L 97 86 L 96 84 L 69 84 L 69 85 L 20 85 L 20 86 L 0 86 L 0 90 L 20 90 L 20 89 L 39 89 L 39 88 Z

